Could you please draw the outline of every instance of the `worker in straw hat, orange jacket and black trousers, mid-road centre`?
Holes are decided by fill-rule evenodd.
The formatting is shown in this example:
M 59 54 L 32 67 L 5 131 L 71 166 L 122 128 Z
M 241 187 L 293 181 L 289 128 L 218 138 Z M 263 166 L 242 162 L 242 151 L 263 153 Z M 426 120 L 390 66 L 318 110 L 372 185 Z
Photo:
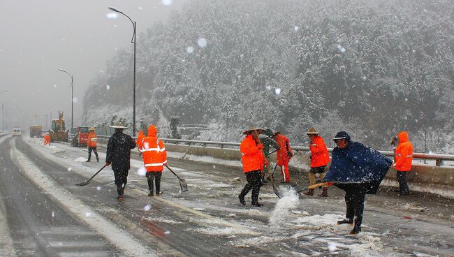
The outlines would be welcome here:
M 242 205 L 246 205 L 244 196 L 252 189 L 251 205 L 253 207 L 262 207 L 263 204 L 258 203 L 258 193 L 260 193 L 261 174 L 265 164 L 265 156 L 263 155 L 263 145 L 258 139 L 258 135 L 265 132 L 263 129 L 249 129 L 243 134 L 246 138 L 240 144 L 241 162 L 243 163 L 243 172 L 246 175 L 247 184 L 244 186 L 238 199 Z

